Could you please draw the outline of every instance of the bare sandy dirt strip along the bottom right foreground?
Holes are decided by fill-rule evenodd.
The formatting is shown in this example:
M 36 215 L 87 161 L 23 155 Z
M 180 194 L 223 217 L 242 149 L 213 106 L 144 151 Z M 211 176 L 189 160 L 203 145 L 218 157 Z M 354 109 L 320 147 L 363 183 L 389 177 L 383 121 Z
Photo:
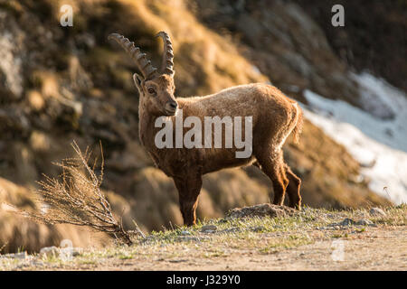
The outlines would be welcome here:
M 336 240 L 337 241 L 337 240 Z M 406 270 L 407 228 L 372 228 L 359 238 L 343 240 L 343 261 L 333 260 L 332 241 L 295 247 L 275 254 L 243 250 L 230 256 L 131 259 L 91 266 L 92 270 Z M 334 243 L 335 244 L 335 243 Z M 337 244 L 337 243 L 336 243 Z M 339 246 L 338 246 L 339 247 Z M 337 248 L 337 247 L 336 247 Z M 340 255 L 338 255 L 340 257 Z

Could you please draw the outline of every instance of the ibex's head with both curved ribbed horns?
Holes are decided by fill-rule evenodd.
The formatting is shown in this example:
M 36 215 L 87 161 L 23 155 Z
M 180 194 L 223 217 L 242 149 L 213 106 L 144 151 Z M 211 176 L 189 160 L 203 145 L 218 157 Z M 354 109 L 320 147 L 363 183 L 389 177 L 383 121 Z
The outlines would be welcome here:
M 128 38 L 113 33 L 109 35 L 109 39 L 118 42 L 130 57 L 136 62 L 138 69 L 143 76 L 135 73 L 133 75 L 134 82 L 140 94 L 140 98 L 144 98 L 147 102 L 149 112 L 157 116 L 174 116 L 178 103 L 174 97 L 174 52 L 171 40 L 167 33 L 160 32 L 156 37 L 160 36 L 164 42 L 164 54 L 161 65 L 161 70 L 156 70 L 147 60 L 146 53 L 142 53 L 134 42 L 130 42 Z

